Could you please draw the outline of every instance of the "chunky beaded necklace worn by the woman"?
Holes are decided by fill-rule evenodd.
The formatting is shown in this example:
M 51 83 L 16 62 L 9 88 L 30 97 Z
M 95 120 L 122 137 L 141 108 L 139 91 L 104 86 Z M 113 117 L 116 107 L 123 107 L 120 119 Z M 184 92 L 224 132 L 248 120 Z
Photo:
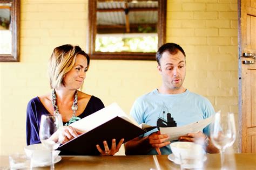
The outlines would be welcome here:
M 71 109 L 73 110 L 73 115 L 72 115 L 72 117 L 71 117 L 71 119 L 69 120 L 69 122 L 67 122 L 66 124 L 65 124 L 65 126 L 68 126 L 68 125 L 70 125 L 71 123 L 73 123 L 73 122 L 76 122 L 76 121 L 78 121 L 78 120 L 80 120 L 81 118 L 80 117 L 77 117 L 76 116 L 76 111 L 77 111 L 77 109 L 78 109 L 78 106 L 77 106 L 77 97 L 78 95 L 77 95 L 77 90 L 76 90 L 76 92 L 75 92 L 75 98 L 74 98 L 74 101 L 73 101 L 73 105 L 72 105 L 72 107 L 71 107 Z M 58 107 L 58 105 L 57 105 L 57 102 L 56 102 L 56 91 L 55 91 L 55 89 L 52 89 L 52 92 L 51 92 L 51 103 L 52 103 L 52 106 L 53 106 L 53 114 L 59 114 L 59 107 Z

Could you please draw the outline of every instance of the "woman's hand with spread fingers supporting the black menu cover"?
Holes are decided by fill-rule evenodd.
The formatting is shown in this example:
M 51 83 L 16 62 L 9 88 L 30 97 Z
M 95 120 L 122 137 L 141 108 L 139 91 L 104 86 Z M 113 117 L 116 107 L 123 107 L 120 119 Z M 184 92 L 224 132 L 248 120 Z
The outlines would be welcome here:
M 99 145 L 96 145 L 98 151 L 100 154 L 102 154 L 103 156 L 109 156 L 109 155 L 114 155 L 116 154 L 121 145 L 123 144 L 124 142 L 124 139 L 121 139 L 118 143 L 118 145 L 116 146 L 116 139 L 112 139 L 112 145 L 111 145 L 111 150 L 109 150 L 109 146 L 107 146 L 107 142 L 106 141 L 103 141 L 103 144 L 104 144 L 104 148 L 105 148 L 105 151 L 103 151 Z

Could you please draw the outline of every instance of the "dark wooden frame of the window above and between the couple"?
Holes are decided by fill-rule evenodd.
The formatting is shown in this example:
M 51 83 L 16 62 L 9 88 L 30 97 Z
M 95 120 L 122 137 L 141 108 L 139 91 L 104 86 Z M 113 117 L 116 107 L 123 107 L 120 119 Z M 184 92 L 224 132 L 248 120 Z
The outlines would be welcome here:
M 166 0 L 158 0 L 158 47 L 166 40 Z M 156 60 L 155 53 L 103 53 L 95 52 L 95 38 L 97 33 L 96 11 L 97 1 L 89 1 L 89 30 L 87 33 L 87 51 L 91 59 L 100 60 Z

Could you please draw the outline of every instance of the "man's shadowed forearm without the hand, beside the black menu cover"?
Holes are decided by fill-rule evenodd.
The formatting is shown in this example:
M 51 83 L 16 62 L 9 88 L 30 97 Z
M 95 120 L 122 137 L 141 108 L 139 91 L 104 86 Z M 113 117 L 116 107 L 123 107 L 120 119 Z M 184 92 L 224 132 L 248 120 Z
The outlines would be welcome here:
M 152 146 L 149 143 L 149 136 L 134 138 L 127 141 L 124 146 L 126 155 L 144 155 L 152 150 Z

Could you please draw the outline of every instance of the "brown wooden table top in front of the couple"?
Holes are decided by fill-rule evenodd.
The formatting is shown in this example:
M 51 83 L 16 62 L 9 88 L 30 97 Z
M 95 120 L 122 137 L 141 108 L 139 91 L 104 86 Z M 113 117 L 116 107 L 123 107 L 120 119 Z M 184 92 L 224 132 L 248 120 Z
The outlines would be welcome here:
M 179 165 L 167 159 L 167 155 L 157 155 L 161 169 L 180 169 Z M 228 169 L 256 169 L 256 154 L 233 154 L 226 157 L 229 163 Z M 8 156 L 0 156 L 0 169 L 8 169 Z M 156 168 L 152 155 L 136 156 L 63 156 L 62 160 L 55 164 L 55 169 L 147 169 Z M 33 169 L 49 169 L 40 167 Z M 220 155 L 207 154 L 205 169 L 220 169 Z

